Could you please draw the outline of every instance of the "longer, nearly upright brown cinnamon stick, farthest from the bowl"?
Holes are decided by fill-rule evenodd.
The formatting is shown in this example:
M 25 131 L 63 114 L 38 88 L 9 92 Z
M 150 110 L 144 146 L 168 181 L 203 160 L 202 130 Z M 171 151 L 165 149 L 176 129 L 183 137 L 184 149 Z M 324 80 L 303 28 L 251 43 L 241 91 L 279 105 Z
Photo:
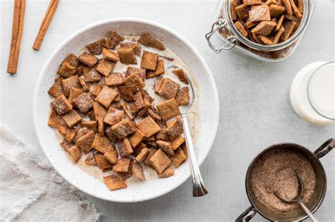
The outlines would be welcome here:
M 9 51 L 7 73 L 16 74 L 18 70 L 18 55 L 25 18 L 25 0 L 14 1 L 13 26 L 11 30 L 11 49 Z

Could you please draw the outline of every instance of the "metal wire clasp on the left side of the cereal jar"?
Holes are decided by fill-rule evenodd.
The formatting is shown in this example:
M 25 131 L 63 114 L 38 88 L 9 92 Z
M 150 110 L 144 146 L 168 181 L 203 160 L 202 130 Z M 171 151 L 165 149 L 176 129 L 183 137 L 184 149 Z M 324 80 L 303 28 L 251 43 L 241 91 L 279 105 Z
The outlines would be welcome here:
M 215 23 L 213 23 L 212 28 L 211 28 L 211 32 L 208 32 L 205 36 L 208 42 L 209 47 L 211 47 L 211 49 L 213 49 L 213 51 L 215 51 L 216 53 L 220 53 L 223 49 L 225 50 L 230 50 L 233 49 L 236 44 L 237 44 L 237 37 L 235 37 L 234 35 L 228 37 L 226 40 L 228 42 L 226 42 L 225 44 L 223 44 L 222 47 L 216 49 L 216 47 L 214 47 L 214 45 L 211 42 L 211 37 L 212 35 L 214 35 L 216 33 L 217 30 L 219 29 L 226 29 L 230 32 L 229 27 L 227 25 L 227 21 L 224 19 L 219 19 L 217 20 Z

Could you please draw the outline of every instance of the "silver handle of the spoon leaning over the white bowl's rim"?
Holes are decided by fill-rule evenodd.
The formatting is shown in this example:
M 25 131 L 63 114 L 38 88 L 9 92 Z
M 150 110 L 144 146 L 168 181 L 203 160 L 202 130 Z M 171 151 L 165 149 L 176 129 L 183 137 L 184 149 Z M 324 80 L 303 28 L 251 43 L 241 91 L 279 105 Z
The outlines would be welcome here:
M 201 197 L 208 194 L 208 191 L 204 185 L 204 180 L 202 180 L 201 173 L 198 166 L 198 161 L 196 161 L 196 154 L 194 152 L 194 146 L 192 142 L 192 135 L 189 131 L 189 123 L 187 122 L 186 112 L 181 114 L 182 125 L 184 128 L 184 137 L 186 140 L 187 152 L 189 154 L 189 165 L 192 172 L 192 183 L 193 183 L 193 197 Z

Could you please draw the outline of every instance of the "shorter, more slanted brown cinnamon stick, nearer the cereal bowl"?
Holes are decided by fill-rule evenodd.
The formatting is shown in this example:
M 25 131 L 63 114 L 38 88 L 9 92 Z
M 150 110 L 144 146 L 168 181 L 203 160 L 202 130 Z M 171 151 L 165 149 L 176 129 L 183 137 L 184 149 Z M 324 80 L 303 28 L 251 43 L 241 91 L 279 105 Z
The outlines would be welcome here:
M 59 0 L 50 0 L 47 12 L 45 13 L 45 18 L 42 20 L 40 30 L 38 30 L 37 37 L 33 45 L 33 49 L 37 51 L 40 50 L 45 34 L 47 33 L 47 29 L 49 28 L 52 18 L 54 17 L 54 13 L 56 12 L 58 3 Z

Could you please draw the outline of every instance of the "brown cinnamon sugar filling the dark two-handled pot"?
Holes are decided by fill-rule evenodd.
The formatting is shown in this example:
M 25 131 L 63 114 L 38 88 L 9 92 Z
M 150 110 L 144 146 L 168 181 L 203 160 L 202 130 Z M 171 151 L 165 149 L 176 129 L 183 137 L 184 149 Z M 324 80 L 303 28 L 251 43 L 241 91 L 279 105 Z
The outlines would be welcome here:
M 306 203 L 315 191 L 315 170 L 302 154 L 289 149 L 276 149 L 267 152 L 252 170 L 251 183 L 254 195 L 269 209 L 290 211 L 298 208 L 297 203 L 283 202 L 276 192 L 286 199 L 298 195 L 298 170 L 302 178 L 304 192 L 302 202 Z

